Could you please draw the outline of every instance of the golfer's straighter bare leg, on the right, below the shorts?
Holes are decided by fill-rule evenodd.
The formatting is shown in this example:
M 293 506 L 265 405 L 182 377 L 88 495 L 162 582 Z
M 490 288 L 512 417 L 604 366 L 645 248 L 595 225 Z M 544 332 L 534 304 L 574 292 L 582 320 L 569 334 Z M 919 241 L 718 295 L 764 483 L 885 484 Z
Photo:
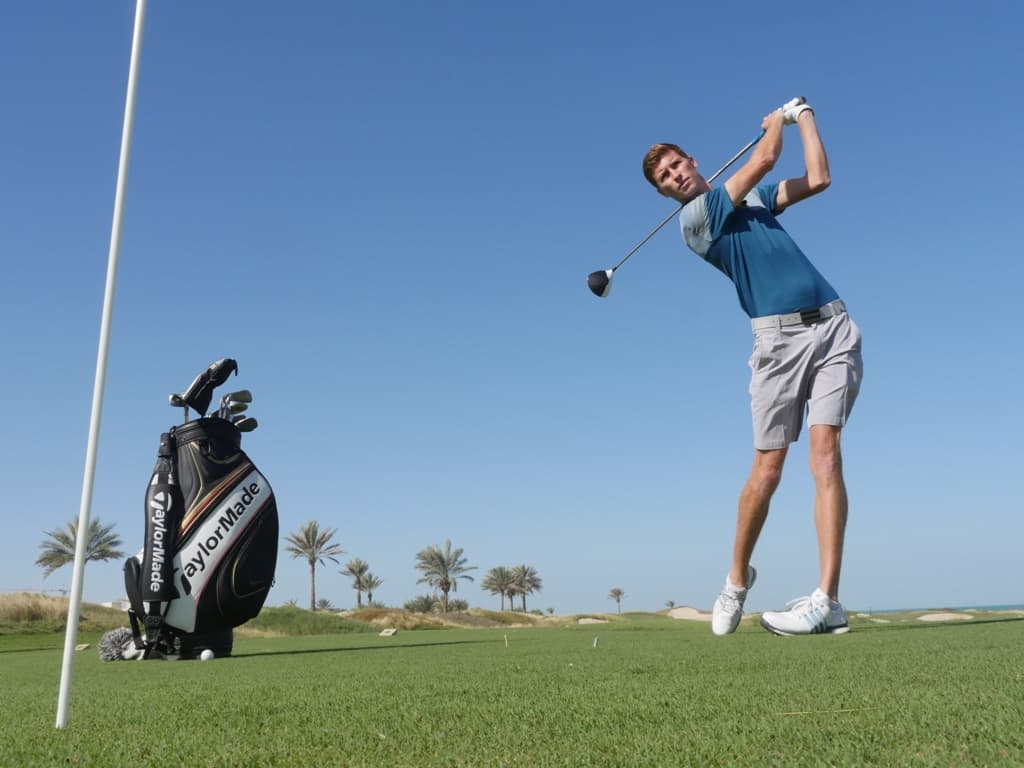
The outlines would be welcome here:
M 843 481 L 843 456 L 840 447 L 842 431 L 842 427 L 826 424 L 815 424 L 810 429 L 810 464 L 815 488 L 814 525 L 818 534 L 818 558 L 821 564 L 819 587 L 837 601 L 849 509 L 846 483 Z

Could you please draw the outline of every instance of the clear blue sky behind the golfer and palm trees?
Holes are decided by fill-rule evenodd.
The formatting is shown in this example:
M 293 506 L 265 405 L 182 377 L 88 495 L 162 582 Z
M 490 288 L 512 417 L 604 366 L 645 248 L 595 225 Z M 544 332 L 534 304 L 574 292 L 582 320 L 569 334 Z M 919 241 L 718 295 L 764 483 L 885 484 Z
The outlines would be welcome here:
M 1019 603 L 1017 3 L 151 2 L 92 514 L 141 544 L 167 395 L 239 360 L 283 532 L 336 527 L 392 604 L 451 538 L 527 563 L 529 607 L 710 607 L 752 458 L 731 285 L 666 227 L 640 160 L 711 173 L 794 95 L 833 171 L 783 225 L 864 335 L 844 435 L 844 602 Z M 0 591 L 76 518 L 134 3 L 0 27 Z M 773 176 L 802 173 L 796 132 Z M 223 390 L 226 391 L 226 390 Z M 748 606 L 817 584 L 806 440 Z M 343 559 L 344 562 L 344 559 Z M 341 565 L 318 596 L 354 603 Z M 91 563 L 87 600 L 123 593 Z M 307 600 L 279 558 L 269 603 Z

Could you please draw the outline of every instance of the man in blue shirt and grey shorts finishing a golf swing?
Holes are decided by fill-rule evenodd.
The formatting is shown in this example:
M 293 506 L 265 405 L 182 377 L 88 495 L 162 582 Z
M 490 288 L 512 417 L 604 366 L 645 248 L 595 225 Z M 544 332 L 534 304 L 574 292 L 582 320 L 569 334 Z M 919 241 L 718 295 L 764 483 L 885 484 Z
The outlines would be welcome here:
M 782 152 L 783 124 L 800 131 L 806 172 L 761 183 Z M 686 245 L 732 281 L 754 331 L 749 361 L 754 466 L 739 495 L 732 567 L 715 601 L 712 631 L 727 635 L 739 626 L 757 578 L 751 556 L 806 414 L 821 581 L 788 610 L 764 613 L 761 624 L 778 635 L 838 634 L 849 631 L 839 601 L 847 518 L 840 438 L 860 389 L 860 331 L 776 218 L 830 182 L 814 112 L 794 99 L 765 117 L 761 127 L 764 135 L 748 162 L 714 189 L 697 172 L 697 162 L 675 144 L 654 144 L 643 160 L 647 180 L 684 205 L 680 224 Z

